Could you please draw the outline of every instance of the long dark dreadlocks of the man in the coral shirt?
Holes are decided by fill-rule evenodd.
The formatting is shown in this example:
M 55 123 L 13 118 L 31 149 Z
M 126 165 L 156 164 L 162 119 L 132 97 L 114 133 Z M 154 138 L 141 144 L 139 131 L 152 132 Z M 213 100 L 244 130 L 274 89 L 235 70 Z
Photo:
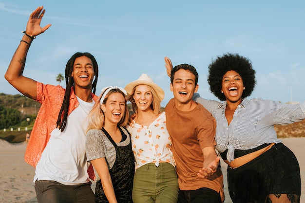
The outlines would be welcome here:
M 91 61 L 93 63 L 95 79 L 92 83 L 92 92 L 95 93 L 95 90 L 96 90 L 96 83 L 97 83 L 97 77 L 98 77 L 98 66 L 97 66 L 97 62 L 95 60 L 95 57 L 88 52 L 85 52 L 85 53 L 77 52 L 77 53 L 75 53 L 74 55 L 71 56 L 71 58 L 68 60 L 68 62 L 66 64 L 66 70 L 65 70 L 66 91 L 65 91 L 65 96 L 64 96 L 63 101 L 62 101 L 60 111 L 58 113 L 58 118 L 57 118 L 57 123 L 56 123 L 57 128 L 60 129 L 61 132 L 65 129 L 65 127 L 67 125 L 67 117 L 68 117 L 71 87 L 73 87 L 73 85 L 74 85 L 74 80 L 73 80 L 73 77 L 71 76 L 72 72 L 73 72 L 74 62 L 75 62 L 76 58 L 81 57 L 81 56 L 87 56 L 88 58 L 91 59 Z

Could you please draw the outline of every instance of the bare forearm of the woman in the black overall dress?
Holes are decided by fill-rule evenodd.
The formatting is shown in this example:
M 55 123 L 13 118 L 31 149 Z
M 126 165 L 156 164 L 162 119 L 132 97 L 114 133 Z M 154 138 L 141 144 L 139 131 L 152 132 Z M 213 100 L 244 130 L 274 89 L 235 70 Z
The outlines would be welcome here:
M 95 167 L 95 170 L 100 177 L 105 195 L 109 203 L 117 203 L 114 186 L 112 185 L 111 176 L 109 173 L 109 169 L 107 166 L 107 162 L 105 158 L 98 158 L 90 161 L 91 164 Z

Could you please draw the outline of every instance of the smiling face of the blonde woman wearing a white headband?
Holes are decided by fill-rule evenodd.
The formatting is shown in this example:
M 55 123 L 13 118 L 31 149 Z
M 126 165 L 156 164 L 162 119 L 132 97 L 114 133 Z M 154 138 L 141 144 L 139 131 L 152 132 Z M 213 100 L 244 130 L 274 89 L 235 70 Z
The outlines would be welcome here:
M 105 104 L 102 104 L 101 109 L 105 115 L 105 125 L 118 124 L 124 117 L 125 113 L 125 97 L 119 92 L 113 92 L 107 98 Z

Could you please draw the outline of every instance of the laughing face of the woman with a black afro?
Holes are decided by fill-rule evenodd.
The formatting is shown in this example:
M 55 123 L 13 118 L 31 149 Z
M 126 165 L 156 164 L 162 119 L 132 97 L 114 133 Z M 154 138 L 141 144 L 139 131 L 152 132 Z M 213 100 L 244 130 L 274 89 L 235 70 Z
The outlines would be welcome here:
M 244 88 L 243 79 L 237 72 L 228 71 L 224 74 L 221 91 L 226 96 L 228 102 L 241 103 Z

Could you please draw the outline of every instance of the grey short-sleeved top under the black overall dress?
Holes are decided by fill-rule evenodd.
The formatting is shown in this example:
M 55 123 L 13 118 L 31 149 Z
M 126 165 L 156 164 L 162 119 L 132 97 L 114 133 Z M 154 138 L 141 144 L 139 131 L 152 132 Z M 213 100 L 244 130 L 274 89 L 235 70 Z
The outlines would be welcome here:
M 127 135 L 127 138 L 123 142 L 116 143 L 116 145 L 118 147 L 125 147 L 130 143 L 130 136 L 123 127 L 120 128 Z M 114 166 L 116 152 L 114 145 L 101 129 L 90 129 L 86 134 L 86 155 L 87 161 L 105 157 L 108 162 L 108 167 L 111 169 Z M 96 171 L 95 176 L 99 180 Z

